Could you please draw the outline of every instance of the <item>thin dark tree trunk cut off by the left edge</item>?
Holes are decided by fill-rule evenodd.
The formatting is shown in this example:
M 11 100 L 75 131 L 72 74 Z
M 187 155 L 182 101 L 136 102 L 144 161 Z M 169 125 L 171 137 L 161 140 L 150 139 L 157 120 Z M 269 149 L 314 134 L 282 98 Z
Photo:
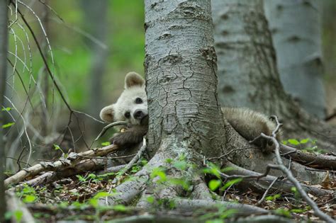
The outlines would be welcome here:
M 4 105 L 4 93 L 6 88 L 7 73 L 7 47 L 8 47 L 8 4 L 0 1 L 0 222 L 5 222 L 6 200 L 4 187 L 4 168 L 6 166 L 5 144 L 4 144 L 4 113 L 1 109 Z

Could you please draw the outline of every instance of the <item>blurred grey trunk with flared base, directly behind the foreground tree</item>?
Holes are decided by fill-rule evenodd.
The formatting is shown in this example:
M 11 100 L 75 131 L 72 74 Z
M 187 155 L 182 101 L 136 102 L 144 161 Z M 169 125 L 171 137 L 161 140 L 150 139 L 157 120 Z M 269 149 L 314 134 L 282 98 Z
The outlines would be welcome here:
M 305 113 L 281 86 L 262 1 L 212 4 L 220 102 L 278 115 L 284 138 L 310 137 L 323 149 L 336 151 L 335 129 Z

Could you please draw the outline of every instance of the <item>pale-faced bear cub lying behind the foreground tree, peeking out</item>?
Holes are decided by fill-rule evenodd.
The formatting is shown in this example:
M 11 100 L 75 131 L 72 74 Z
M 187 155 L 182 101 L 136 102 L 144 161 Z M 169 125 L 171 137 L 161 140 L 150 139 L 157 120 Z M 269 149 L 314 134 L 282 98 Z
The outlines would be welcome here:
M 222 108 L 223 115 L 230 125 L 247 140 L 264 133 L 271 135 L 276 125 L 266 115 L 247 108 Z M 117 102 L 101 110 L 100 117 L 106 122 L 126 121 L 129 123 L 124 132 L 116 133 L 111 143 L 122 148 L 133 147 L 142 142 L 148 130 L 147 96 L 145 80 L 139 74 L 130 72 L 125 76 L 125 90 Z M 280 135 L 277 136 L 277 139 Z M 266 139 L 254 142 L 262 151 L 271 151 L 274 146 Z

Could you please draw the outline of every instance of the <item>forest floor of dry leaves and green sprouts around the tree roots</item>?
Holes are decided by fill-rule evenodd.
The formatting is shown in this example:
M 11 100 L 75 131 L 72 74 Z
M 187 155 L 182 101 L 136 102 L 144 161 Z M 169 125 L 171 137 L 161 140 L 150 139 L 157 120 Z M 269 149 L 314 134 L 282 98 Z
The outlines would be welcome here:
M 223 206 L 209 208 L 208 210 L 200 209 L 196 212 L 179 211 L 179 209 L 174 207 L 174 203 L 155 200 L 154 197 L 147 199 L 148 202 L 155 202 L 154 207 L 149 209 L 122 204 L 109 207 L 99 205 L 99 199 L 106 197 L 108 192 L 113 192 L 113 188 L 116 188 L 117 185 L 125 181 L 132 181 L 133 174 L 137 173 L 145 164 L 147 164 L 147 161 L 140 159 L 126 173 L 124 173 L 122 168 L 119 168 L 119 170 L 117 168 L 114 173 L 104 173 L 103 171 L 96 173 L 91 171 L 45 184 L 23 184 L 19 190 L 16 190 L 16 197 L 26 204 L 30 213 L 38 222 L 57 222 L 60 220 L 138 222 L 142 217 L 145 217 L 142 220 L 146 222 L 150 219 L 148 218 L 149 216 L 154 216 L 152 219 L 159 219 L 157 218 L 158 216 L 168 216 L 176 222 L 223 222 L 224 220 L 225 222 L 235 222 L 237 218 L 235 210 L 225 210 Z M 183 161 L 177 165 L 183 166 Z M 203 170 L 206 170 L 206 167 L 203 167 Z M 203 170 L 201 169 L 200 171 Z M 203 172 L 207 175 L 207 171 Z M 164 178 L 164 176 L 161 177 L 162 179 Z M 313 210 L 300 197 L 295 188 L 293 188 L 293 193 L 286 193 L 281 190 L 267 193 L 263 202 L 258 204 L 262 198 L 260 193 L 249 189 L 241 190 L 240 188 L 240 184 L 243 184 L 244 181 L 249 181 L 249 179 L 237 181 L 230 186 L 226 186 L 226 188 L 219 188 L 213 184 L 211 185 L 211 178 L 213 176 L 211 177 L 209 174 L 206 176 L 209 188 L 213 190 L 213 193 L 217 193 L 223 201 L 259 206 L 265 210 L 270 210 L 271 214 L 288 219 L 289 222 L 291 220 L 295 222 L 318 221 L 318 217 L 313 215 Z M 250 181 L 256 181 L 256 179 L 250 179 Z M 308 182 L 302 183 L 309 185 Z M 335 178 L 325 178 L 322 185 L 313 186 L 335 190 L 336 181 Z M 316 202 L 320 210 L 330 216 L 336 216 L 335 195 L 326 195 L 324 197 L 309 196 Z M 15 215 L 15 213 L 13 214 Z M 133 217 L 133 220 L 129 217 Z M 20 215 L 16 218 L 20 219 Z

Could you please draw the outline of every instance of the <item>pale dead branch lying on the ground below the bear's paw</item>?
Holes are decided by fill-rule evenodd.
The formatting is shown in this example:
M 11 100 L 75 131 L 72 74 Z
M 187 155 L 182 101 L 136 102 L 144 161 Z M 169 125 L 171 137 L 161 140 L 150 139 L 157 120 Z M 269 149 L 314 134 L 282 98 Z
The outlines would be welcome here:
M 60 168 L 72 168 L 79 164 L 79 162 L 82 161 L 84 157 L 105 156 L 112 151 L 117 150 L 118 147 L 116 145 L 109 145 L 107 147 L 102 147 L 98 149 L 90 149 L 79 154 L 71 152 L 67 156 L 67 159 L 58 160 L 55 162 L 40 162 L 40 164 L 36 164 L 29 168 L 24 168 L 21 171 L 18 171 L 18 173 L 14 174 L 13 176 L 7 178 L 5 180 L 5 187 L 8 187 L 10 184 L 19 183 L 28 177 L 36 176 L 38 173 L 41 173 L 43 171 L 57 171 Z

